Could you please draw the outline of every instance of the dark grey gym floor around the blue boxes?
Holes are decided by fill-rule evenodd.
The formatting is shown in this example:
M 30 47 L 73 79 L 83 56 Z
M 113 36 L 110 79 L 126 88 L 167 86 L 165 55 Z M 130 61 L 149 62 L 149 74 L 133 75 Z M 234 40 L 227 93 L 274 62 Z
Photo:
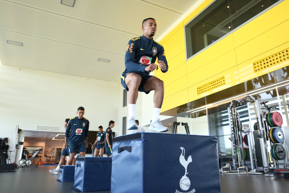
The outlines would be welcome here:
M 0 192 L 7 193 L 76 193 L 73 182 L 57 182 L 58 175 L 48 172 L 55 166 L 19 168 L 0 172 Z M 271 177 L 270 174 L 220 174 L 222 193 L 287 193 L 289 179 Z M 208 179 L 209 180 L 209 179 Z M 109 193 L 98 191 L 97 193 Z M 137 192 L 136 192 L 137 193 Z M 164 192 L 166 193 L 166 192 Z M 199 192 L 196 192 L 199 193 Z

